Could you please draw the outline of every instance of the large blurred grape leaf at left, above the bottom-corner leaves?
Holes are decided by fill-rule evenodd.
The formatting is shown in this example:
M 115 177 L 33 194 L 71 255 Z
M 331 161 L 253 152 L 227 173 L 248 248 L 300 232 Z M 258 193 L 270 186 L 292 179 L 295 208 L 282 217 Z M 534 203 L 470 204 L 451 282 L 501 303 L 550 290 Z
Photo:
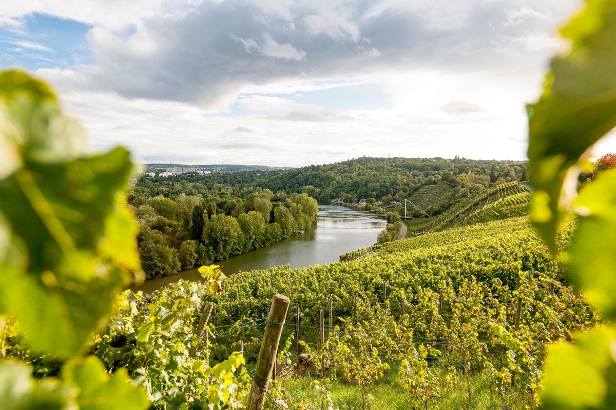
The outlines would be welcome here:
M 31 347 L 72 357 L 140 271 L 134 218 L 121 205 L 132 164 L 113 149 L 84 156 L 76 126 L 44 83 L 0 73 L 2 141 L 17 166 L 0 179 L 0 313 L 14 312 Z M 8 124 L 8 125 L 7 125 Z

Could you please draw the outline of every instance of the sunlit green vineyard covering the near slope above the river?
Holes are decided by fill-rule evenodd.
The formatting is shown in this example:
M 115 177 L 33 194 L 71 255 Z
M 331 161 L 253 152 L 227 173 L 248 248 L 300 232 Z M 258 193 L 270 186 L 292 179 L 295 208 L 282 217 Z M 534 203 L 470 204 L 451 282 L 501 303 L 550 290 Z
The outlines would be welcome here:
M 561 246 L 567 240 L 564 232 Z M 546 345 L 572 342 L 574 331 L 601 323 L 561 276 L 527 219 L 512 218 L 387 243 L 330 266 L 235 274 L 219 294 L 187 282 L 148 296 L 127 291 L 89 349 L 110 371 L 128 369 L 156 408 L 200 408 L 213 392 L 230 406 L 247 394 L 269 303 L 282 293 L 297 310 L 285 321 L 266 408 L 319 408 L 285 393 L 304 371 L 299 377 L 313 380 L 334 407 L 328 384 L 356 388 L 355 406 L 384 408 L 371 403 L 384 383 L 411 408 L 535 408 Z M 214 303 L 213 317 L 200 336 L 205 302 Z M 54 368 L 28 357 L 20 340 L 4 341 L 12 355 L 41 372 Z M 198 342 L 206 347 L 192 356 Z M 307 361 L 291 366 L 298 353 Z M 472 399 L 477 379 L 490 392 L 482 404 Z

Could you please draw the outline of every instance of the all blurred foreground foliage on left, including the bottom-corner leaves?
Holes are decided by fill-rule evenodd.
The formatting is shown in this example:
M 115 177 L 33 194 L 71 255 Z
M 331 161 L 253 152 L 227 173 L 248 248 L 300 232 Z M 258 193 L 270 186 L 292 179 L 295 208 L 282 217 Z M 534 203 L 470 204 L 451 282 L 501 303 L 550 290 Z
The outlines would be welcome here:
M 18 71 L 0 73 L 0 145 L 0 403 L 146 408 L 123 371 L 110 378 L 97 358 L 75 358 L 131 270 L 140 272 L 137 226 L 123 207 L 128 152 L 88 156 L 78 125 L 47 85 Z M 16 318 L 25 338 L 5 334 L 4 315 Z M 6 347 L 26 359 L 39 353 L 39 363 L 47 355 L 62 367 L 60 377 L 33 380 L 33 366 L 4 359 Z

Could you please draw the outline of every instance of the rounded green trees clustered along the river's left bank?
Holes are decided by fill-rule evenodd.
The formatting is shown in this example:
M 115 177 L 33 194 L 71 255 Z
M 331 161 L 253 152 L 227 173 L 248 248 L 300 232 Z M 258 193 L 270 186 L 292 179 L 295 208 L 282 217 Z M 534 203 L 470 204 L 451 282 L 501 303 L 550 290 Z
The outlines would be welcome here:
M 128 202 L 139 220 L 139 253 L 147 278 L 270 245 L 317 220 L 317 201 L 306 194 L 187 188 L 188 194 L 165 197 L 162 192 L 170 192 L 164 184 L 142 181 L 129 192 Z

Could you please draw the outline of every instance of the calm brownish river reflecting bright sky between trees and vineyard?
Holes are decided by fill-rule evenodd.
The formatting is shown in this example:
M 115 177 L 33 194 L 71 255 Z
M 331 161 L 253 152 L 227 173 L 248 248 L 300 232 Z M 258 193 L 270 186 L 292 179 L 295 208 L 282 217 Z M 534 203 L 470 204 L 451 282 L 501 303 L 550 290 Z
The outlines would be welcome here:
M 377 235 L 387 224 L 383 216 L 366 215 L 346 207 L 322 205 L 318 208 L 316 226 L 306 229 L 304 234 L 293 235 L 289 239 L 232 256 L 216 264 L 223 266 L 222 272 L 229 276 L 238 270 L 245 272 L 285 264 L 294 269 L 338 262 L 343 253 L 374 245 Z M 131 289 L 149 293 L 180 279 L 201 280 L 201 275 L 197 268 L 182 270 L 175 275 L 147 280 Z

